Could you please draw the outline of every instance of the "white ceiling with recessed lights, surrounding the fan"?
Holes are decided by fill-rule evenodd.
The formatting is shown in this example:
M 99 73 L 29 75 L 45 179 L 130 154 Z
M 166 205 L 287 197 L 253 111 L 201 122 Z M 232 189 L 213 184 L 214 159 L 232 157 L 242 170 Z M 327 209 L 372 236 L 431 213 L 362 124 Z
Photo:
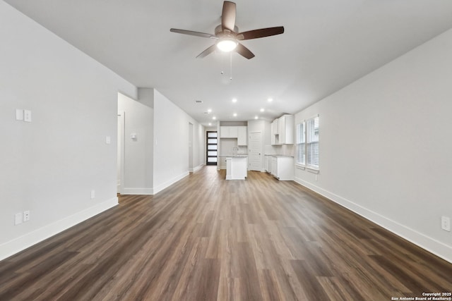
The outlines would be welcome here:
M 230 80 L 229 54 L 195 59 L 213 39 L 169 32 L 213 33 L 220 0 L 6 2 L 203 125 L 296 113 L 452 27 L 451 0 L 237 0 L 240 31 L 285 33 L 243 41 L 256 57 L 232 54 Z

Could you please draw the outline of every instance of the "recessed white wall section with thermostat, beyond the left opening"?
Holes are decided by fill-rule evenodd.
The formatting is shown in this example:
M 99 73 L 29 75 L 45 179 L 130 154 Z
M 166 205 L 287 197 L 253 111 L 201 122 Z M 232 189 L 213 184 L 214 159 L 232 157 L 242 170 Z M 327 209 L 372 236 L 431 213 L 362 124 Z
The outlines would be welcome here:
M 143 91 L 142 88 L 140 88 Z M 153 89 L 147 89 L 153 92 Z M 118 111 L 124 112 L 124 195 L 153 194 L 153 118 L 154 110 L 121 93 Z M 136 139 L 131 135 L 136 134 Z

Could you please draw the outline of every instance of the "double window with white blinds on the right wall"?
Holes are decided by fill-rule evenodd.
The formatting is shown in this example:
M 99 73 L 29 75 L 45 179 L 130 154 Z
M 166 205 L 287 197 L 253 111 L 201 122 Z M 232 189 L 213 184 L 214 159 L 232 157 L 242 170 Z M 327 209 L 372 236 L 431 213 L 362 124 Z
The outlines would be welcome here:
M 297 124 L 297 164 L 319 169 L 319 116 Z

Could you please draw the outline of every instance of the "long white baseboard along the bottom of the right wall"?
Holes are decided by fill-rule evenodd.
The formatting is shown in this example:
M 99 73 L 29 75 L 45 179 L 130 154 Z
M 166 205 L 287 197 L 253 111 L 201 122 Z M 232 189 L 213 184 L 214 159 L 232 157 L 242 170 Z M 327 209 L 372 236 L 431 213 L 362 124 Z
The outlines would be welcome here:
M 452 247 L 450 245 L 446 245 L 444 244 L 444 242 L 429 238 L 427 235 L 419 233 L 412 228 L 408 228 L 407 226 L 404 226 L 396 221 L 388 219 L 381 214 L 364 208 L 359 204 L 340 197 L 339 195 L 335 195 L 333 192 L 329 192 L 328 190 L 324 190 L 323 188 L 320 188 L 316 185 L 312 185 L 305 180 L 295 178 L 295 182 L 299 185 L 309 188 L 310 190 L 313 190 L 314 192 L 319 193 L 319 195 L 323 195 L 323 197 L 331 199 L 333 202 L 338 203 L 347 209 L 350 209 L 351 211 L 359 214 L 365 219 L 376 223 L 377 225 L 385 228 L 388 231 L 391 231 L 401 238 L 404 238 L 405 240 L 408 240 L 415 245 L 422 247 L 422 249 L 427 250 L 432 254 L 435 254 L 436 256 L 452 263 Z

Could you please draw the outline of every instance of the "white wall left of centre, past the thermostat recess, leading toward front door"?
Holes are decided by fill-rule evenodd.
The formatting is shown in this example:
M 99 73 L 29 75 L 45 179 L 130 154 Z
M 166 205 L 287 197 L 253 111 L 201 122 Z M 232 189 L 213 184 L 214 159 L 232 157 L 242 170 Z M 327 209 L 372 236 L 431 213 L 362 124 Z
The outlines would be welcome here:
M 189 123 L 194 125 L 194 168 L 203 165 L 203 125 L 154 90 L 154 193 L 189 174 Z

